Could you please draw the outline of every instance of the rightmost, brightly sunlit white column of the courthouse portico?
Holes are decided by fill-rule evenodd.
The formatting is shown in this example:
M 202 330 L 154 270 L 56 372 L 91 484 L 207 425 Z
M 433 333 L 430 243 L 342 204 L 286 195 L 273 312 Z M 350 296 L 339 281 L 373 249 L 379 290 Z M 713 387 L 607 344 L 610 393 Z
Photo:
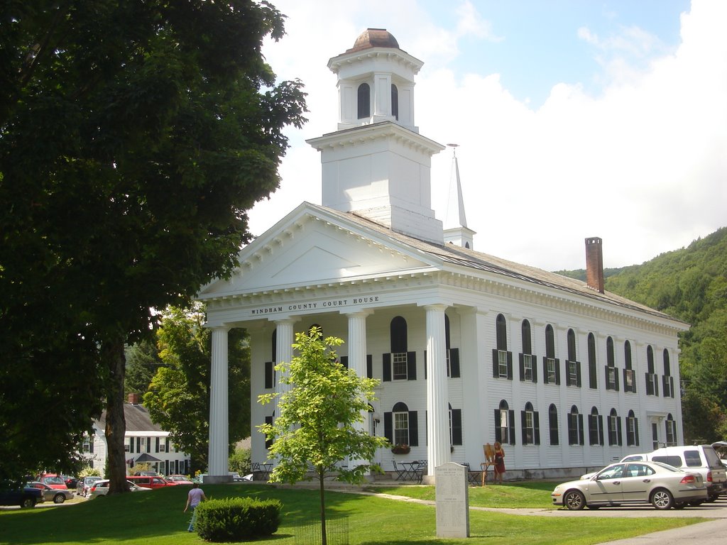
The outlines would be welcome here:
M 447 389 L 445 304 L 427 310 L 427 481 L 434 482 L 435 467 L 450 461 L 449 392 Z

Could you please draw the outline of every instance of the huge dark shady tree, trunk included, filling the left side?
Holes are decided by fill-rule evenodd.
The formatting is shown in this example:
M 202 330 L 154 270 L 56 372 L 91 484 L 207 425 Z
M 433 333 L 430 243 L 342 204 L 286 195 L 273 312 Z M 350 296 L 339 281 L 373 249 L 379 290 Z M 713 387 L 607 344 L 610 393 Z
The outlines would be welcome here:
M 250 0 L 0 4 L 2 467 L 69 464 L 57 449 L 105 398 L 126 490 L 124 346 L 150 336 L 150 309 L 230 274 L 282 131 L 305 121 L 300 83 L 260 51 L 283 34 Z

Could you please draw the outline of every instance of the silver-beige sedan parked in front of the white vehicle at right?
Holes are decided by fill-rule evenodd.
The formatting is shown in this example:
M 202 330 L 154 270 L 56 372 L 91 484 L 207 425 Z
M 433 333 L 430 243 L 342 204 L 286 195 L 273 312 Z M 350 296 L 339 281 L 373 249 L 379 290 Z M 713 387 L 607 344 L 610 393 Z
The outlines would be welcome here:
M 555 487 L 553 505 L 571 510 L 651 504 L 656 509 L 681 509 L 707 501 L 707 486 L 698 472 L 685 472 L 658 461 L 617 462 L 590 479 Z

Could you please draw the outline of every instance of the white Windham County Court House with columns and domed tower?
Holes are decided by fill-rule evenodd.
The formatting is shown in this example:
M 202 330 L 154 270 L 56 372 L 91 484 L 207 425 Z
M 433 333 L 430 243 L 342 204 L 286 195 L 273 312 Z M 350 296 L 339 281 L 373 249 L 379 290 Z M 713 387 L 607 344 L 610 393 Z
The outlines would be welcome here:
M 431 207 L 430 161 L 444 146 L 414 124 L 422 61 L 369 29 L 328 66 L 337 131 L 308 140 L 322 206 L 301 203 L 199 294 L 213 339 L 209 474 L 228 473 L 236 327 L 252 345 L 252 461 L 267 458 L 255 426 L 276 416 L 257 395 L 281 389 L 273 365 L 313 325 L 344 339 L 342 363 L 381 381 L 364 427 L 411 447 L 377 453 L 388 471 L 394 460 L 426 459 L 430 475 L 447 461 L 478 467 L 495 440 L 507 472 L 525 477 L 680 444 L 687 324 L 604 291 L 599 238 L 585 241 L 586 283 L 475 251 L 458 175 L 457 221 Z

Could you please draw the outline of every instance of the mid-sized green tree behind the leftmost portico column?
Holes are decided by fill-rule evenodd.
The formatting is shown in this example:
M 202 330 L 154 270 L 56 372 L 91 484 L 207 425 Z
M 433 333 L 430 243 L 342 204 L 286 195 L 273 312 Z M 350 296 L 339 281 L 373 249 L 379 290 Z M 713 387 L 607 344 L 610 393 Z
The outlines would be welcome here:
M 194 469 L 206 469 L 209 445 L 209 369 L 212 333 L 204 327 L 204 307 L 169 307 L 157 332 L 165 366 L 158 368 L 144 395 L 151 419 L 169 432 L 178 448 L 192 457 Z M 250 435 L 250 349 L 244 329 L 228 333 L 228 413 L 230 452 Z

